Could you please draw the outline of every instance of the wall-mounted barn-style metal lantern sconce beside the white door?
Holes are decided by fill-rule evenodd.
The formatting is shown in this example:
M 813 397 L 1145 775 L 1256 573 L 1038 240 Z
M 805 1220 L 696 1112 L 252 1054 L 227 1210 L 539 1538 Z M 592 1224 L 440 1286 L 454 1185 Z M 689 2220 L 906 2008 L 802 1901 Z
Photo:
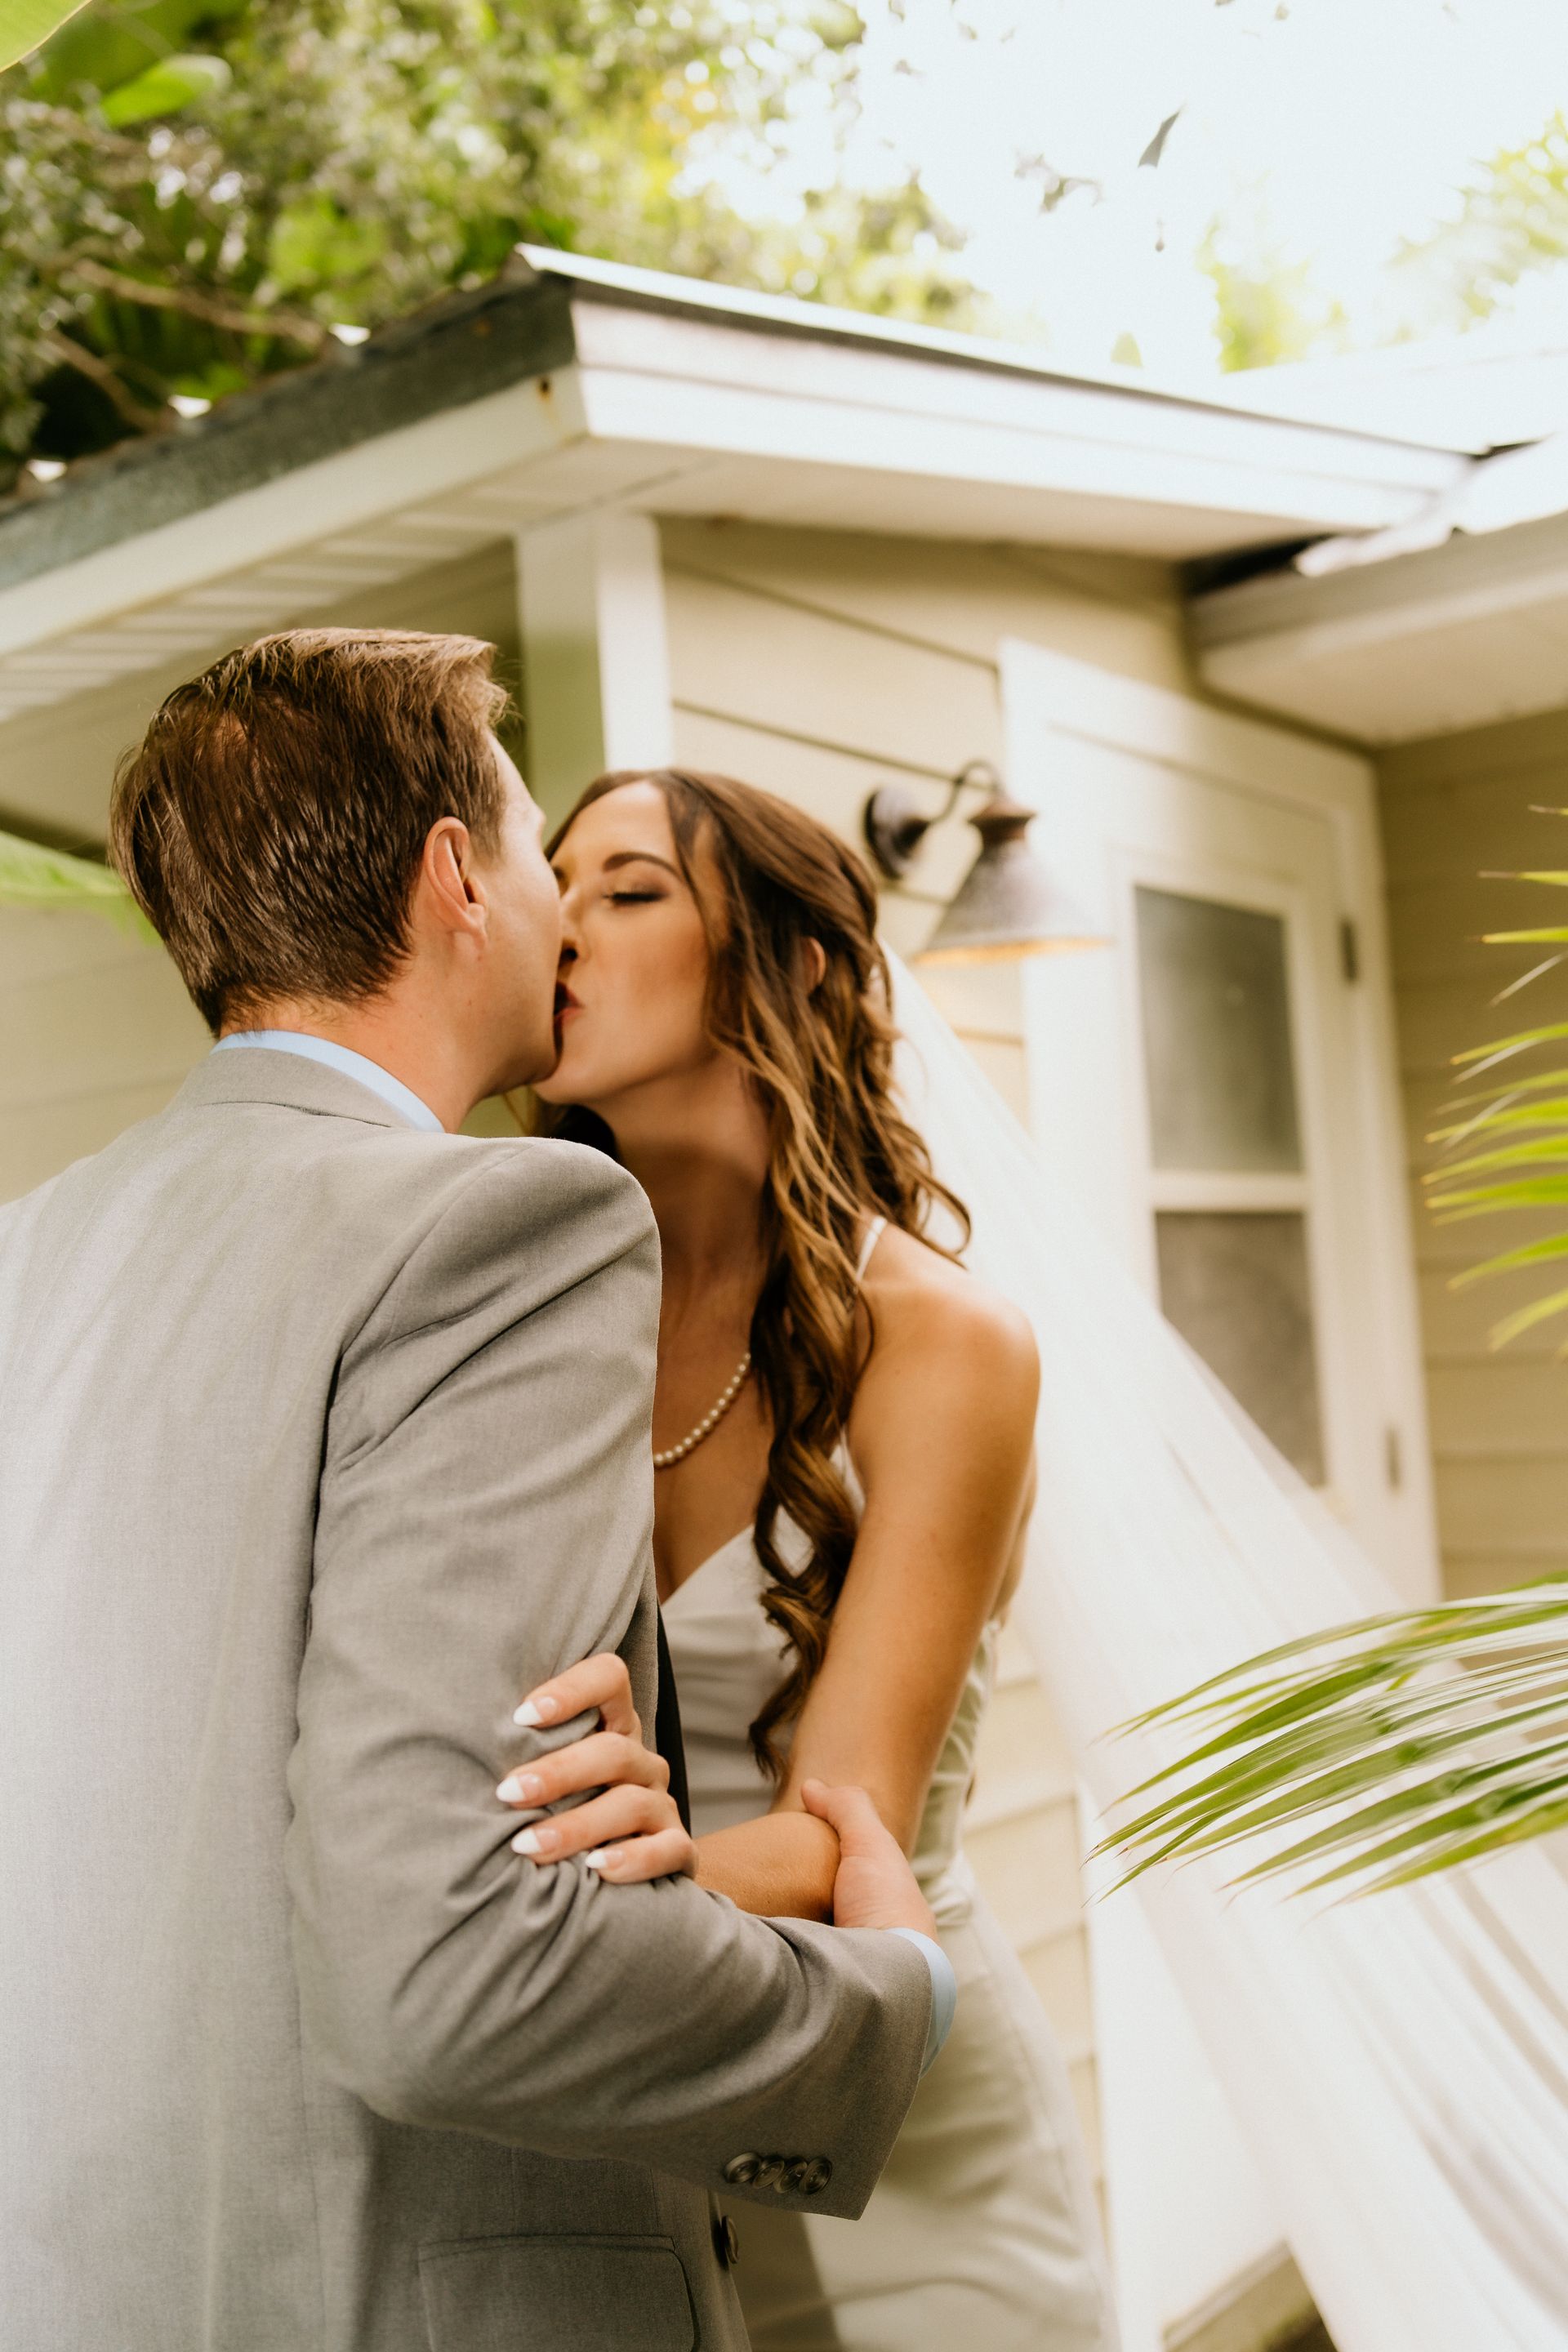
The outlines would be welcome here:
M 884 783 L 872 793 L 863 816 L 865 840 L 889 882 L 910 870 L 931 826 L 940 826 L 957 807 L 959 793 L 973 788 L 990 795 L 969 818 L 980 835 L 980 856 L 912 962 L 999 964 L 1023 955 L 1107 948 L 1110 938 L 1091 929 L 1025 842 L 1034 809 L 1009 800 L 990 760 L 971 760 L 957 771 L 936 816 L 919 814 L 914 793 L 905 783 Z

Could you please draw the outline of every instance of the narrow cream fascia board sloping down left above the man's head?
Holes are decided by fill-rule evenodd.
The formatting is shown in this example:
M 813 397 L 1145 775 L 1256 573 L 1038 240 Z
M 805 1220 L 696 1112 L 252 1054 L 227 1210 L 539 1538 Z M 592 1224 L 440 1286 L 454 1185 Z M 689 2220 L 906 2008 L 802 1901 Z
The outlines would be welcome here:
M 585 433 L 574 369 L 512 383 L 465 407 L 341 449 L 237 492 L 216 508 L 96 548 L 0 590 L 0 654 L 118 614 L 200 593 L 233 574 L 362 529 L 505 466 L 550 456 Z M 402 527 L 402 524 L 400 524 Z M 498 534 L 505 524 L 498 524 Z M 440 560 L 440 550 L 437 550 Z

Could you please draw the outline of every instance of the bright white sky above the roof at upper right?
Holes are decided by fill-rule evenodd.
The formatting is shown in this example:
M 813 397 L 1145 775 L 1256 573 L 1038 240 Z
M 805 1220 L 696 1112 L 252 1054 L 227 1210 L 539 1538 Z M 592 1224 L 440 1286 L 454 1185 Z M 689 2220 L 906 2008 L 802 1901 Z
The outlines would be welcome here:
M 1100 365 L 1133 334 L 1157 374 L 1215 365 L 1194 263 L 1220 216 L 1279 247 L 1356 343 L 1408 308 L 1387 259 L 1453 212 L 1476 158 L 1568 108 L 1568 0 L 860 0 L 863 122 L 846 169 L 910 165 L 966 233 L 964 268 L 1016 332 Z M 1159 169 L 1138 167 L 1180 108 Z M 820 174 L 811 94 L 792 172 Z M 1098 186 L 1041 212 L 1051 174 Z M 745 200 L 745 191 L 736 188 Z M 1410 325 L 1422 325 L 1410 320 Z

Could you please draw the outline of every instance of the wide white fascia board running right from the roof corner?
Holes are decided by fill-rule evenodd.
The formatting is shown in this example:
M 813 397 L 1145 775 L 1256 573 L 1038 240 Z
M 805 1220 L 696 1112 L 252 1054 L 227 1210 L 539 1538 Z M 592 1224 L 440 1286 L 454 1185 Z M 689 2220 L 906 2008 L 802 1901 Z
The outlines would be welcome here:
M 1138 393 L 576 303 L 588 426 L 726 456 L 1208 508 L 1279 534 L 1382 529 L 1462 459 Z

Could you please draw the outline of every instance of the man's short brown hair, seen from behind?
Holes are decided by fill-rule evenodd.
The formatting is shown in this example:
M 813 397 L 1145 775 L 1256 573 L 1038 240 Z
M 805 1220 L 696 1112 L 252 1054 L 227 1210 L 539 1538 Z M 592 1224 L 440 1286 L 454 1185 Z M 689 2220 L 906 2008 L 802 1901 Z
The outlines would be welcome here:
M 442 816 L 496 849 L 494 654 L 414 630 L 259 637 L 176 687 L 120 760 L 113 863 L 214 1033 L 277 997 L 374 995 Z

